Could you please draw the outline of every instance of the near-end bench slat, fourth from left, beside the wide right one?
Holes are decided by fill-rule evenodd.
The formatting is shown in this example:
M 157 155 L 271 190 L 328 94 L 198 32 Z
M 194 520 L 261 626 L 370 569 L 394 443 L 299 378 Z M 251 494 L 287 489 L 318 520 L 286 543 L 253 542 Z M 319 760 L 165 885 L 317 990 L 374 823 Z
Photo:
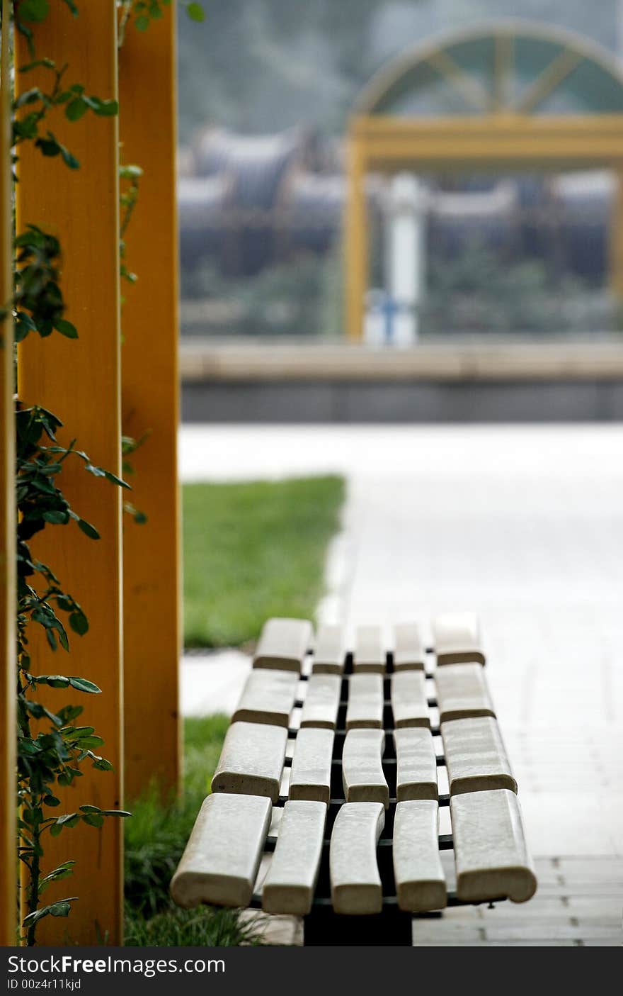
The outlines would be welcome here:
M 443 909 L 448 896 L 439 855 L 439 806 L 429 799 L 399 802 L 393 838 L 398 905 L 407 912 Z

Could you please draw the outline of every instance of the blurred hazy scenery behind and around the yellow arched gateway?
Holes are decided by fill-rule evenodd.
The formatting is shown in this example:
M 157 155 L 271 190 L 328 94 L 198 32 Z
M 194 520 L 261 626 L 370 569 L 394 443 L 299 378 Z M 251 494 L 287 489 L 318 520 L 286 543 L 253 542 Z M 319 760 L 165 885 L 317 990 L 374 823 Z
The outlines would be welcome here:
M 358 95 L 414 45 L 504 17 L 572 29 L 613 55 L 623 45 L 619 0 L 232 0 L 211 5 L 204 31 L 181 21 L 185 339 L 343 339 L 344 134 Z M 536 79 L 555 55 L 534 41 L 521 58 Z M 483 72 L 485 52 L 468 58 Z M 583 111 L 594 95 L 580 83 L 575 108 L 558 91 L 536 113 Z M 424 84 L 413 113 L 457 113 Z M 418 176 L 419 339 L 618 341 L 615 196 L 604 170 Z M 368 177 L 377 311 L 392 293 L 395 199 L 391 177 Z

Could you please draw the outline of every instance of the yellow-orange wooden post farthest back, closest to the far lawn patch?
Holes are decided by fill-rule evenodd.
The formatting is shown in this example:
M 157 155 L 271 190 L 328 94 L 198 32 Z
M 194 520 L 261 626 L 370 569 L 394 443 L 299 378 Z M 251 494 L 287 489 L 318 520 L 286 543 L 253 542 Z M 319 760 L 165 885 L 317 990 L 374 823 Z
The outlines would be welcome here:
M 138 281 L 122 288 L 121 312 L 123 433 L 145 436 L 131 456 L 129 497 L 147 516 L 145 525 L 125 517 L 123 528 L 130 800 L 150 778 L 176 788 L 180 769 L 175 14 L 174 5 L 164 8 L 143 33 L 130 24 L 119 52 L 121 159 L 143 169 L 124 236 Z

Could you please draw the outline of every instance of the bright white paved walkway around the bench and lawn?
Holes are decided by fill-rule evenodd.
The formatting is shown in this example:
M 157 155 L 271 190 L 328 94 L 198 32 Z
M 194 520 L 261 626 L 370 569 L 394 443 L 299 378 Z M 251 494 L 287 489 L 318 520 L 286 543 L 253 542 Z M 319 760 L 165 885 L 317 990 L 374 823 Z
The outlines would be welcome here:
M 623 940 L 622 457 L 618 425 L 182 430 L 184 480 L 347 477 L 322 619 L 483 620 L 539 890 L 416 921 L 416 944 Z M 193 697 L 204 673 L 231 708 L 234 659 L 193 658 Z

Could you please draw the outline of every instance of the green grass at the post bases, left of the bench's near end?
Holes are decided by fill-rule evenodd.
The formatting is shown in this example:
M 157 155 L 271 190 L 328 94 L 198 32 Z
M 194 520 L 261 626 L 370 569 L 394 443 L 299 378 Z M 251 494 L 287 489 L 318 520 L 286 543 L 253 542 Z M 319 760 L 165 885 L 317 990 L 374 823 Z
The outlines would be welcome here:
M 252 942 L 252 926 L 236 910 L 179 909 L 168 892 L 201 803 L 209 791 L 227 716 L 186 719 L 184 789 L 159 801 L 155 786 L 128 806 L 125 821 L 125 943 L 129 946 L 235 946 Z

